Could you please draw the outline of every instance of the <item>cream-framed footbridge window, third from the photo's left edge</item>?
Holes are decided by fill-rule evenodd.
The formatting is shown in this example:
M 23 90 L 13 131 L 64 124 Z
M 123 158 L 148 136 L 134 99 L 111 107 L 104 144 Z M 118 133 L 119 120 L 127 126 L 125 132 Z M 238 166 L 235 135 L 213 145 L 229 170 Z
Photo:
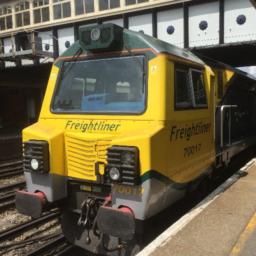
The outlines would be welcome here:
M 49 21 L 49 0 L 33 0 L 33 14 L 34 23 Z

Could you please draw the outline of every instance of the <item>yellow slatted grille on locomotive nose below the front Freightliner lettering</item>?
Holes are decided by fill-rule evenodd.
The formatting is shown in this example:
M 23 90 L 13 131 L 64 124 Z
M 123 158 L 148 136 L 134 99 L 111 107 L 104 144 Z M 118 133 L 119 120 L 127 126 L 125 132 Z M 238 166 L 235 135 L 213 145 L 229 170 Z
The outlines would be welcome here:
M 96 180 L 95 163 L 106 163 L 106 148 L 109 147 L 110 141 L 84 138 L 79 136 L 79 133 L 76 134 L 65 135 L 68 176 L 81 174 L 84 179 Z

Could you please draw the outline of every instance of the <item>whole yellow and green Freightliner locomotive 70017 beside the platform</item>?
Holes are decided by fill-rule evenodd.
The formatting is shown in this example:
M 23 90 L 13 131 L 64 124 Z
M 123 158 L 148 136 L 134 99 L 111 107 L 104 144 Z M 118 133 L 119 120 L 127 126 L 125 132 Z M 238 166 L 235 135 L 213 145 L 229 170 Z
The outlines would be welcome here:
M 210 61 L 115 24 L 80 28 L 23 130 L 18 211 L 55 202 L 69 241 L 136 254 L 146 219 L 255 142 L 256 80 Z

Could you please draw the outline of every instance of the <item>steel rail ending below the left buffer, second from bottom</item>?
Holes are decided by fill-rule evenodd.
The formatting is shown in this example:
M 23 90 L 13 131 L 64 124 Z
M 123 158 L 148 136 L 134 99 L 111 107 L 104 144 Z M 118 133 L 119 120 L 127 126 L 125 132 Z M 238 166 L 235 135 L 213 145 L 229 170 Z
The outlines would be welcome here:
M 61 216 L 61 212 L 57 211 L 57 212 L 47 214 L 46 216 L 42 216 L 41 218 L 38 218 L 35 220 L 29 220 L 24 223 L 20 223 L 13 227 L 7 228 L 0 232 L 0 243 L 3 241 L 6 241 L 8 239 L 11 239 L 15 236 L 18 236 L 28 230 L 31 230 L 35 226 L 38 226 L 38 225 L 44 224 L 48 221 L 51 221 L 59 216 Z

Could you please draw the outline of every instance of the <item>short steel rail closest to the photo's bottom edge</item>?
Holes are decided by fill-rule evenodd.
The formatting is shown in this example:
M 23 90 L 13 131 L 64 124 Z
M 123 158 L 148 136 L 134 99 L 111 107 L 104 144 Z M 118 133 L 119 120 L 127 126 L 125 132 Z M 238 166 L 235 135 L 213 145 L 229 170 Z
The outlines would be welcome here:
M 26 252 L 25 254 L 23 254 L 23 256 L 38 256 L 38 255 L 41 256 L 48 252 L 51 252 L 53 249 L 61 246 L 66 242 L 68 242 L 67 239 L 63 234 L 61 234 L 59 237 L 51 239 L 50 241 L 42 244 L 41 246 Z

